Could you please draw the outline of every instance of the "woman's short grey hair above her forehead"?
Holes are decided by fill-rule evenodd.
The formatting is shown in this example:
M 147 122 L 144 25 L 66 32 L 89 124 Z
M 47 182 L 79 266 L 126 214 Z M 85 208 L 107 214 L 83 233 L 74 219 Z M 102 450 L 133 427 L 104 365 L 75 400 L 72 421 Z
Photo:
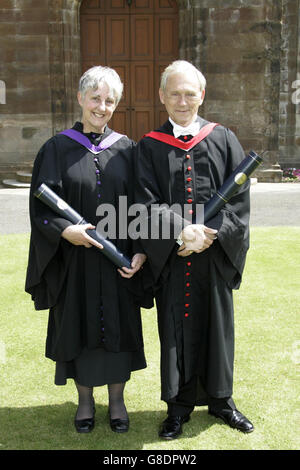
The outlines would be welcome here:
M 122 98 L 123 83 L 117 72 L 110 67 L 97 65 L 88 69 L 79 80 L 78 91 L 84 96 L 88 89 L 97 90 L 101 82 L 106 83 L 118 104 Z

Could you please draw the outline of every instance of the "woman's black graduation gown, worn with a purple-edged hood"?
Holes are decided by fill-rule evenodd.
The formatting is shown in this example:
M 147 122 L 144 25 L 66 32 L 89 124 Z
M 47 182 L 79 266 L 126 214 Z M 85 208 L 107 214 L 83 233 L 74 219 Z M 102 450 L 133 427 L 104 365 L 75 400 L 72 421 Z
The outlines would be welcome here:
M 81 131 L 82 124 L 76 123 L 74 129 Z M 106 127 L 103 138 L 111 132 Z M 132 202 L 134 145 L 123 136 L 99 154 L 100 185 L 94 155 L 65 135 L 48 140 L 35 160 L 25 290 L 37 310 L 50 309 L 46 356 L 52 360 L 71 361 L 83 349 L 99 347 L 111 352 L 143 349 L 140 299 L 135 295 L 139 273 L 123 279 L 97 248 L 64 240 L 61 232 L 70 222 L 33 196 L 44 182 L 96 226 L 99 203 L 112 204 L 118 214 L 120 196 Z M 140 252 L 128 238 L 111 240 L 128 257 Z

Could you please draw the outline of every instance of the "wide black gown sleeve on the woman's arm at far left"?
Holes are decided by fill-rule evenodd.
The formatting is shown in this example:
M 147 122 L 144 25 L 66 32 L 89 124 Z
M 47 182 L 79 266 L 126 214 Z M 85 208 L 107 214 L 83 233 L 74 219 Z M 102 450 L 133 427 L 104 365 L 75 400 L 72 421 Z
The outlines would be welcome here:
M 32 172 L 29 196 L 31 237 L 25 291 L 31 294 L 36 310 L 55 305 L 67 270 L 66 257 L 72 252 L 71 245 L 68 246 L 61 238 L 62 231 L 71 223 L 33 195 L 41 183 L 46 183 L 65 198 L 60 153 L 57 139 L 50 139 L 39 151 Z

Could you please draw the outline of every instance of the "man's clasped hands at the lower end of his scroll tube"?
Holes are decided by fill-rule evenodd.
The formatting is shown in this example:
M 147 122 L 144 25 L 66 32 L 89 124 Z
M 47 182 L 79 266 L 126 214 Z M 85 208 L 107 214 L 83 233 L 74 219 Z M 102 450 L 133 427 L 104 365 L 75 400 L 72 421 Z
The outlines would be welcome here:
M 217 230 L 206 227 L 205 225 L 188 225 L 181 232 L 184 249 L 195 253 L 201 253 L 213 244 L 214 240 L 217 238 L 217 233 Z M 187 256 L 187 254 L 181 253 L 180 256 Z

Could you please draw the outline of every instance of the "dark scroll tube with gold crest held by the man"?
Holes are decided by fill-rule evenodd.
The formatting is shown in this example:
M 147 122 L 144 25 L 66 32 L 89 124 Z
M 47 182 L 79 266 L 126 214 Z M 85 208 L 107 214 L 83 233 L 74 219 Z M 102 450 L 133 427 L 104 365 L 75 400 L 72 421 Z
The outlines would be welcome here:
M 244 158 L 234 172 L 222 184 L 220 189 L 204 204 L 204 223 L 214 217 L 222 209 L 262 161 L 262 157 L 257 155 L 253 150 L 250 151 L 247 157 Z

